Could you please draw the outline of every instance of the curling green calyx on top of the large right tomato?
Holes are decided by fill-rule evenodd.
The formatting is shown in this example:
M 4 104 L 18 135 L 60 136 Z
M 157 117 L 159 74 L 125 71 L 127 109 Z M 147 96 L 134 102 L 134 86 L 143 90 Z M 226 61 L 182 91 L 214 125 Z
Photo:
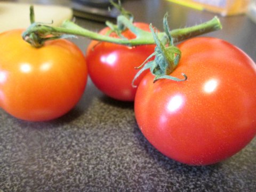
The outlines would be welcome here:
M 181 58 L 181 51 L 178 47 L 174 46 L 173 38 L 169 30 L 168 22 L 167 22 L 167 13 L 164 16 L 163 20 L 163 28 L 165 32 L 165 36 L 163 36 L 162 40 L 157 36 L 157 31 L 149 25 L 151 33 L 153 34 L 154 41 L 156 43 L 155 52 L 151 54 L 137 69 L 140 69 L 139 72 L 135 75 L 132 86 L 134 85 L 134 81 L 143 73 L 143 71 L 150 69 L 151 74 L 155 76 L 155 83 L 158 79 L 166 78 L 171 79 L 172 81 L 186 81 L 186 74 L 182 73 L 181 75 L 184 77 L 183 79 L 170 76 L 172 71 L 178 66 L 179 60 Z M 149 61 L 149 59 L 155 57 L 153 61 Z M 149 62 L 148 62 L 149 61 Z

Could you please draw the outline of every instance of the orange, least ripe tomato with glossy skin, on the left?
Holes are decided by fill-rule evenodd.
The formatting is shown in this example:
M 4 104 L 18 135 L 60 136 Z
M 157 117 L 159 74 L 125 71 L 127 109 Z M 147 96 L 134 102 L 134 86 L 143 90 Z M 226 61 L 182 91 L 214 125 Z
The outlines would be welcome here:
M 22 30 L 0 35 L 0 106 L 14 117 L 47 121 L 66 114 L 85 89 L 83 53 L 65 40 L 39 49 L 22 40 Z

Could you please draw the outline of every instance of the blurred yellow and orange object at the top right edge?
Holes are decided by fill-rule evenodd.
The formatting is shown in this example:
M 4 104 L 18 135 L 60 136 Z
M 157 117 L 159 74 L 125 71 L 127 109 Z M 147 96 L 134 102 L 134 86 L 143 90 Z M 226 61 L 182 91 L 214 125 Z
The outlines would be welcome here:
M 167 0 L 197 10 L 219 13 L 222 16 L 243 14 L 247 11 L 250 0 Z

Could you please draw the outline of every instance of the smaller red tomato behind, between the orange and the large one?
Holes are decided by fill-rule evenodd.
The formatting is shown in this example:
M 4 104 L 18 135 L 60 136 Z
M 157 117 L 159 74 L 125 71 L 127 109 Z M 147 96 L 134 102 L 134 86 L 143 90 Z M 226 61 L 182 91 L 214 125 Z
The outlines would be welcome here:
M 147 23 L 134 23 L 135 26 L 150 31 Z M 109 28 L 104 28 L 100 34 L 106 34 Z M 130 30 L 122 33 L 128 39 L 135 38 Z M 111 34 L 112 37 L 117 37 Z M 140 66 L 154 52 L 155 45 L 125 46 L 108 42 L 92 41 L 86 51 L 86 63 L 89 75 L 95 86 L 109 97 L 134 101 L 137 88 L 132 87 L 132 80 Z M 140 82 L 141 77 L 134 84 Z

